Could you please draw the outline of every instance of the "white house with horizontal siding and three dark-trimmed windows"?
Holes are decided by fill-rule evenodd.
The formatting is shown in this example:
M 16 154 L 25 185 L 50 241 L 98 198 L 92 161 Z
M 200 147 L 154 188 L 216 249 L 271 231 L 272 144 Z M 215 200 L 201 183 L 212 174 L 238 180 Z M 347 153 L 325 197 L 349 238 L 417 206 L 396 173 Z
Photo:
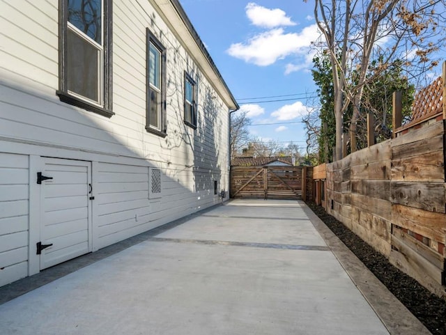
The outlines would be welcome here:
M 238 105 L 178 0 L 0 20 L 0 286 L 222 201 Z

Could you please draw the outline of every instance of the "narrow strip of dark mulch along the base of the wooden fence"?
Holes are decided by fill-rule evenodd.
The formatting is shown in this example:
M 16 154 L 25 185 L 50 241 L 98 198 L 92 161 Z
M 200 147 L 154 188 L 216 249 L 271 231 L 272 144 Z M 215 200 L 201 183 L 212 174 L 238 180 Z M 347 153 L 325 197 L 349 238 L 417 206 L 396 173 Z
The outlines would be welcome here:
M 415 279 L 390 264 L 385 256 L 328 215 L 323 207 L 315 203 L 307 205 L 433 335 L 446 335 L 444 299 L 433 295 Z

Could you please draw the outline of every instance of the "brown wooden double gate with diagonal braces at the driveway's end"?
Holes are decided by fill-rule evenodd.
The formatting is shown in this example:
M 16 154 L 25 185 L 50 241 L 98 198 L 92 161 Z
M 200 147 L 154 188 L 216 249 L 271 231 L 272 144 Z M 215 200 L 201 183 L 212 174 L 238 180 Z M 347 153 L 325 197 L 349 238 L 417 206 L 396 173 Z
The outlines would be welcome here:
M 231 198 L 302 199 L 306 171 L 302 166 L 231 166 Z

